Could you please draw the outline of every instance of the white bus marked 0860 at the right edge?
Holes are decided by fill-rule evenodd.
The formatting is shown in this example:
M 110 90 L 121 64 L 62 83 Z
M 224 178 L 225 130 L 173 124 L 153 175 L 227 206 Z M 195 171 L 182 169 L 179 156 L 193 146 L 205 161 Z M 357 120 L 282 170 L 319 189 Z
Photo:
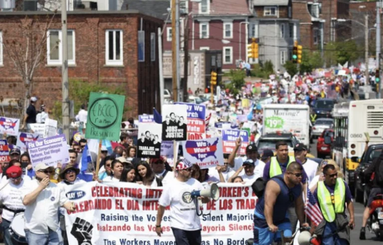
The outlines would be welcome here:
M 333 159 L 343 169 L 347 183 L 354 189 L 354 171 L 366 146 L 382 143 L 383 99 L 336 104 L 333 110 Z

